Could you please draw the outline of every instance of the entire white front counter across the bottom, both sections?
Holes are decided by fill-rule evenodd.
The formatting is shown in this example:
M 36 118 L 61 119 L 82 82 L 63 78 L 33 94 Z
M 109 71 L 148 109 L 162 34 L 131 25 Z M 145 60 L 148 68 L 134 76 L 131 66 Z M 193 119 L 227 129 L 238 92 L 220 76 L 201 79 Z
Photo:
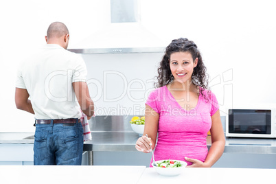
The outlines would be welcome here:
M 1 183 L 273 183 L 275 169 L 185 168 L 161 176 L 145 166 L 0 165 Z M 199 177 L 198 177 L 199 176 Z

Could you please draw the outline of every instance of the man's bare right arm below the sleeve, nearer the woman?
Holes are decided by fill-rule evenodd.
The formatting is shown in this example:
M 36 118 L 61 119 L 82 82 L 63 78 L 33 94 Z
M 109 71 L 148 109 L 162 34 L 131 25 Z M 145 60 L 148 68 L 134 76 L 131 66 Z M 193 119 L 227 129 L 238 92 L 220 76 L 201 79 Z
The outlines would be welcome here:
M 73 82 L 72 84 L 82 112 L 87 115 L 87 119 L 90 119 L 94 114 L 94 103 L 89 95 L 87 82 Z

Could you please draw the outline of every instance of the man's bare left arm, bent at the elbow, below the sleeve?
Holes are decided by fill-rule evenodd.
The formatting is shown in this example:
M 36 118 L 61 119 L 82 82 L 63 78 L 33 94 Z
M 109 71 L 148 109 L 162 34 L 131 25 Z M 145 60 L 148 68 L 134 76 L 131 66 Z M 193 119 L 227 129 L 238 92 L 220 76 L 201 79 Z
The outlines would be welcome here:
M 34 114 L 34 109 L 32 108 L 31 100 L 28 100 L 28 98 L 29 93 L 27 93 L 27 89 L 15 89 L 16 108 Z

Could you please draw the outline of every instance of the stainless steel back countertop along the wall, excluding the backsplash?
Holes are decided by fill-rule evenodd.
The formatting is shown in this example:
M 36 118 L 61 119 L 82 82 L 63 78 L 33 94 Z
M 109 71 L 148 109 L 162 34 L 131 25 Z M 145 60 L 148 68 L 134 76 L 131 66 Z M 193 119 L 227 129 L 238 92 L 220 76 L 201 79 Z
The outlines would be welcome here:
M 84 151 L 137 151 L 139 135 L 133 131 L 98 131 L 91 135 L 92 141 L 84 142 Z M 34 143 L 34 133 L 0 133 L 0 143 Z M 207 146 L 211 146 L 211 136 L 207 137 Z M 276 154 L 276 139 L 227 138 L 225 152 Z

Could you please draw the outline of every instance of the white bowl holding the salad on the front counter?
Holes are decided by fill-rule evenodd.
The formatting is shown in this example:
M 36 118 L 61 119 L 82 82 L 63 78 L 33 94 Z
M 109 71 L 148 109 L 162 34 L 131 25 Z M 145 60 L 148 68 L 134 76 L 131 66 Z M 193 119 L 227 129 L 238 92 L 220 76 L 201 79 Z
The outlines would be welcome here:
M 160 163 L 164 160 L 161 161 L 156 161 L 157 163 Z M 172 161 L 178 161 L 178 160 L 172 160 Z M 163 176 L 176 176 L 181 174 L 183 172 L 184 168 L 187 166 L 187 163 L 185 161 L 179 161 L 182 166 L 179 168 L 160 168 L 157 166 L 154 166 L 152 163 L 152 167 L 157 171 L 158 174 L 163 175 Z

